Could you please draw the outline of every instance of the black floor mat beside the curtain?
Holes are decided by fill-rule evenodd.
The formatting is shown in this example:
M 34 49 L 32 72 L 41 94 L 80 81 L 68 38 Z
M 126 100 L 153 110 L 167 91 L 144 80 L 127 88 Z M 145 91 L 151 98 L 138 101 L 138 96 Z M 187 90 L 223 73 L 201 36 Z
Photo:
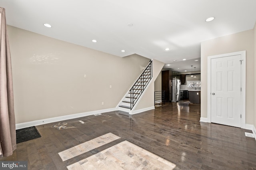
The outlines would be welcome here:
M 16 130 L 16 142 L 25 142 L 27 140 L 41 137 L 36 127 L 27 127 Z

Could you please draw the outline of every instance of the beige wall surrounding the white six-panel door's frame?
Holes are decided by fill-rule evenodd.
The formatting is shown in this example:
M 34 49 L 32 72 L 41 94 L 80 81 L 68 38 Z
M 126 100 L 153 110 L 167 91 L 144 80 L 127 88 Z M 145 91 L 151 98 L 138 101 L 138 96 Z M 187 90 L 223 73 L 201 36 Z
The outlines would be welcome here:
M 254 123 L 254 30 L 201 43 L 201 117 L 207 117 L 207 57 L 246 50 L 246 124 Z

